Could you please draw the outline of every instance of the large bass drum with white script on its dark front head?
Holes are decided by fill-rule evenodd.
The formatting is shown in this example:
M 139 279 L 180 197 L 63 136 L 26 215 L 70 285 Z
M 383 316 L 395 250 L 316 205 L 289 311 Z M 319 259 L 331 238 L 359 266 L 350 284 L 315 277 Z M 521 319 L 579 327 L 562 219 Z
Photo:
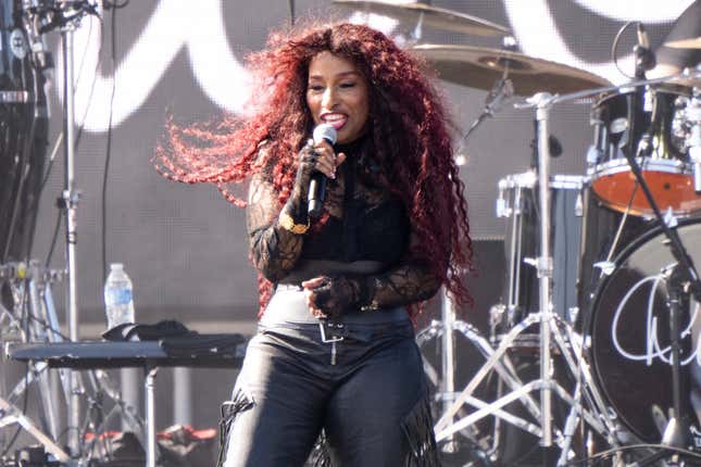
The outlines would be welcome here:
M 701 265 L 701 219 L 680 223 L 678 232 L 693 262 Z M 596 383 L 623 426 L 643 442 L 656 443 L 673 406 L 669 317 L 662 274 L 676 261 L 658 227 L 629 244 L 613 263 L 594 295 L 587 324 Z M 699 387 L 692 381 L 701 370 L 696 357 L 701 331 L 698 314 L 691 300 L 683 307 L 680 325 L 686 336 L 683 404 L 693 424 L 691 399 Z

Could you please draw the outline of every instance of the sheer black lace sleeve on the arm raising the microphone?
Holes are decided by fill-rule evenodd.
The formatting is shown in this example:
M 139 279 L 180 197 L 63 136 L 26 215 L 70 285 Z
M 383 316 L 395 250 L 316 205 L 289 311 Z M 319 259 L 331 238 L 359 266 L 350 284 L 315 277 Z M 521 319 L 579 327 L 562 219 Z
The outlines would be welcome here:
M 304 237 L 281 228 L 283 209 L 273 184 L 261 174 L 251 178 L 247 224 L 254 266 L 272 282 L 287 276 L 302 251 Z

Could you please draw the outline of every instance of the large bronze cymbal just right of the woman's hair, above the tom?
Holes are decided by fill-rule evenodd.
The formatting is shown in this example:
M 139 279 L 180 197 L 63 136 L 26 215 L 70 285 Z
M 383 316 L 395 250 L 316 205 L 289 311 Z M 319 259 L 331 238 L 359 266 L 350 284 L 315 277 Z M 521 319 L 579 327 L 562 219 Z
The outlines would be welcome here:
M 611 86 L 605 78 L 584 70 L 508 50 L 425 43 L 413 46 L 409 51 L 433 64 L 441 79 L 471 88 L 491 89 L 506 67 L 514 93 L 518 96 L 539 91 L 569 93 Z

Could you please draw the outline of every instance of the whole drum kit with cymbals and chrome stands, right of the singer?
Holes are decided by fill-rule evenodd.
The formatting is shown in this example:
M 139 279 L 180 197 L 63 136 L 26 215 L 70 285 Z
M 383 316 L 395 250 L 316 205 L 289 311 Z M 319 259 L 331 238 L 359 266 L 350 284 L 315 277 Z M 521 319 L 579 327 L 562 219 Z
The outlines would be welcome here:
M 334 3 L 411 22 L 414 39 L 424 26 L 509 35 L 423 3 Z M 489 336 L 456 319 L 449 295 L 417 335 L 422 349 L 441 345 L 440 370 L 425 357 L 437 441 L 443 453 L 466 445 L 475 466 L 701 465 L 701 67 L 646 79 L 652 52 L 637 47 L 635 80 L 612 86 L 504 43 L 408 47 L 440 79 L 490 91 L 463 141 L 505 99 L 530 96 L 516 105 L 536 112 L 531 169 L 498 181 L 508 277 Z M 665 46 L 701 49 L 701 38 Z M 586 173 L 551 175 L 549 112 L 583 100 Z M 481 363 L 460 391 L 454 333 Z

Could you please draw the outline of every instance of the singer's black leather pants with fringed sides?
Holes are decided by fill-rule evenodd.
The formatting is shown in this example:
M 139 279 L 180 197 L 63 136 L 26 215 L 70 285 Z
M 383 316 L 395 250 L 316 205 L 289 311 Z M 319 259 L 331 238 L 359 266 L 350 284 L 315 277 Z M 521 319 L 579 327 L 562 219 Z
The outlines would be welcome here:
M 223 408 L 225 467 L 438 465 L 411 323 L 261 327 Z M 318 446 L 318 444 L 317 444 Z M 321 453 L 324 454 L 321 454 Z

